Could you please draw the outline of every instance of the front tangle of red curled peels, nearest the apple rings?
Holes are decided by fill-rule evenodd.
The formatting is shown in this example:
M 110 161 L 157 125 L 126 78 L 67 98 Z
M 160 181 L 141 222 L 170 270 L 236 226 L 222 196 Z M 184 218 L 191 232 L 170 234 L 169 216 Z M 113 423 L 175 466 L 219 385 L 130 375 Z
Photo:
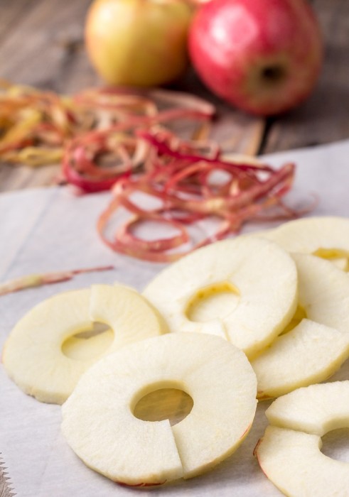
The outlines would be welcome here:
M 168 131 L 160 130 L 155 135 L 144 131 L 141 136 L 151 145 L 153 162 L 148 163 L 144 173 L 124 178 L 114 185 L 112 201 L 97 222 L 102 241 L 113 251 L 145 261 L 168 263 L 200 246 L 237 234 L 245 222 L 262 220 L 261 214 L 271 207 L 279 212 L 274 217 L 269 216 L 269 220 L 298 215 L 281 202 L 281 197 L 293 183 L 294 164 L 274 169 L 268 165 L 250 167 L 245 163 L 228 163 L 220 160 L 219 154 L 210 157 L 196 153 L 195 144 L 190 148 L 189 142 L 181 142 Z M 230 180 L 223 187 L 208 183 L 208 174 L 217 168 L 230 173 Z M 267 178 L 262 180 L 259 173 Z M 161 200 L 161 207 L 147 210 L 135 204 L 131 198 L 134 192 L 144 192 Z M 119 226 L 116 235 L 109 238 L 105 231 L 119 207 L 126 208 L 132 215 Z M 186 225 L 212 216 L 221 220 L 215 234 L 189 250 L 181 251 L 181 246 L 190 241 Z M 131 232 L 137 223 L 154 220 L 172 225 L 180 235 L 146 241 Z

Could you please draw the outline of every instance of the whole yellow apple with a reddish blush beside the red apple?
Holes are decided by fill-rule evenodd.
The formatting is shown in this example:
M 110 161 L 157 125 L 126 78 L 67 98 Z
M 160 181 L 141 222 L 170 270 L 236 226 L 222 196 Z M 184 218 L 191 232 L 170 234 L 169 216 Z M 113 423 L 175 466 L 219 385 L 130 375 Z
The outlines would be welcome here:
M 188 63 L 192 9 L 181 0 L 95 0 L 87 13 L 87 54 L 109 84 L 171 82 Z

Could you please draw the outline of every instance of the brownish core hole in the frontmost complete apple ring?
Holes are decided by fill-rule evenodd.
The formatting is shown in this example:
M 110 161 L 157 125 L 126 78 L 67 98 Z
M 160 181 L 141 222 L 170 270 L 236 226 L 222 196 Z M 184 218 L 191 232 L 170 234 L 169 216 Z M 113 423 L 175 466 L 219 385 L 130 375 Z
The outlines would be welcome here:
M 193 399 L 179 388 L 159 388 L 144 395 L 134 408 L 134 416 L 143 421 L 169 420 L 176 425 L 193 409 Z

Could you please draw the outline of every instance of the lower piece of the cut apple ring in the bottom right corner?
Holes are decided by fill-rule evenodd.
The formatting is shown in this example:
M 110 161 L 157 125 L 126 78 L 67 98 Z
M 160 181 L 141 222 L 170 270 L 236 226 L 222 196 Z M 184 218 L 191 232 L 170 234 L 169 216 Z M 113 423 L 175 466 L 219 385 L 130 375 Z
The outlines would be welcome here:
M 321 452 L 321 437 L 268 426 L 254 453 L 267 478 L 289 497 L 348 497 L 349 464 Z

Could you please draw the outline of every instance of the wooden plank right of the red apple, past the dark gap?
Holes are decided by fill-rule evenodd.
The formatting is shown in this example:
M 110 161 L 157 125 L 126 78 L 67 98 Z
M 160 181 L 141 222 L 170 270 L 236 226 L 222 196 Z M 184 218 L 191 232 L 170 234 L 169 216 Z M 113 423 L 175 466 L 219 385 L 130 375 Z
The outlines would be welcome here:
M 270 121 L 264 153 L 349 138 L 349 2 L 313 0 L 312 4 L 326 48 L 321 77 L 307 102 Z

